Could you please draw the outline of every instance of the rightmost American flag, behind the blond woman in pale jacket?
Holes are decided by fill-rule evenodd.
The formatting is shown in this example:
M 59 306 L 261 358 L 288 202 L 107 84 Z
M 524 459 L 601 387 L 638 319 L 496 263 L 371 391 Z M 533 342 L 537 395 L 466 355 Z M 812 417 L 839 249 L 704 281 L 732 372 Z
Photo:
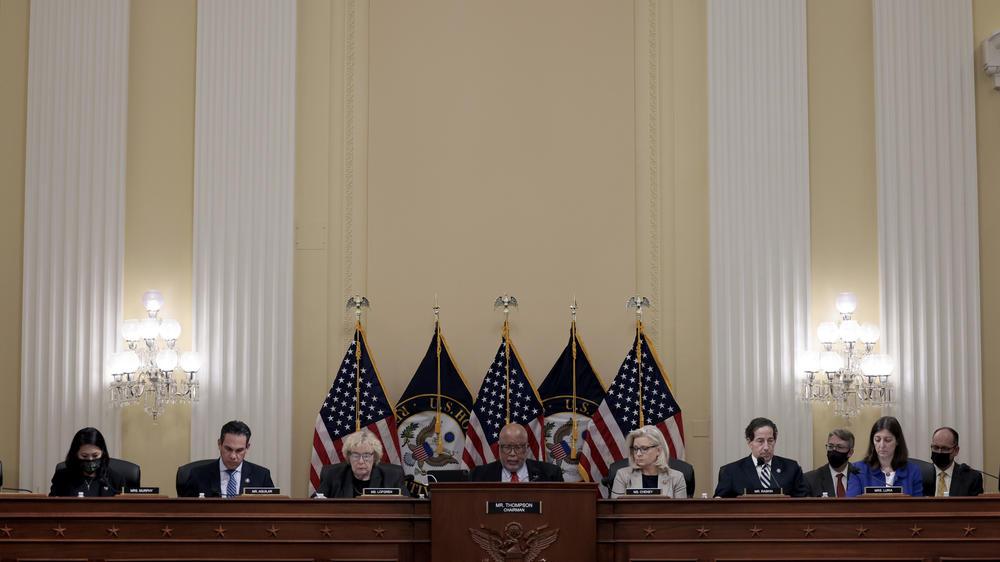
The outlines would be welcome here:
M 663 373 L 656 351 L 639 328 L 642 341 L 642 412 L 645 425 L 655 425 L 667 441 L 670 456 L 684 458 L 684 423 L 681 408 L 674 400 L 670 381 Z M 580 467 L 592 482 L 600 482 L 608 465 L 625 458 L 625 436 L 639 427 L 639 366 L 636 342 L 625 356 L 614 383 L 597 408 L 587 428 L 587 438 L 580 454 Z M 601 487 L 607 496 L 607 490 Z

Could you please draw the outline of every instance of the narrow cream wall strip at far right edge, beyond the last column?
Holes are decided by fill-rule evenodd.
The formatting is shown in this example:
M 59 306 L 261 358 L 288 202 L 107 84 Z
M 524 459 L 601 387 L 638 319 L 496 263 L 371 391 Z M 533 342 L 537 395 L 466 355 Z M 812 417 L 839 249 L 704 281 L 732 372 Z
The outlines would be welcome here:
M 973 0 L 976 48 L 976 150 L 979 153 L 979 286 L 983 345 L 983 470 L 1000 466 L 1000 90 L 982 71 L 980 45 L 1000 29 L 1000 2 Z M 964 444 L 963 444 L 964 446 Z M 986 478 L 986 491 L 997 481 Z

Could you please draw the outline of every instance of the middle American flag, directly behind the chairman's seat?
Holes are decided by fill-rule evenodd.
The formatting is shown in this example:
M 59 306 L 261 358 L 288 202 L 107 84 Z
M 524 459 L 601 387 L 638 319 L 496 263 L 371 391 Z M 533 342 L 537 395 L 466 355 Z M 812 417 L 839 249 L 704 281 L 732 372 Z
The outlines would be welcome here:
M 509 339 L 510 357 L 504 342 L 500 342 L 493 363 L 486 371 L 483 385 L 479 387 L 472 417 L 465 432 L 465 450 L 462 466 L 472 468 L 497 460 L 497 441 L 500 429 L 507 424 L 507 361 L 510 360 L 510 422 L 519 423 L 528 430 L 528 455 L 544 460 L 545 412 L 535 386 L 521 366 L 521 359 Z

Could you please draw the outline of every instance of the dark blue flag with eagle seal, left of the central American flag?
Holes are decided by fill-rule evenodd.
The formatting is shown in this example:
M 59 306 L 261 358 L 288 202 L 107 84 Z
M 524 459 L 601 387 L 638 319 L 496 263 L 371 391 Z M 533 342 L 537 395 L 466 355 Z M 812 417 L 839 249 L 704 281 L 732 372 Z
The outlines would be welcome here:
M 435 430 L 439 403 L 440 435 Z M 435 329 L 427 353 L 413 373 L 403 397 L 396 404 L 403 470 L 413 476 L 413 480 L 407 482 L 411 496 L 427 494 L 427 471 L 461 468 L 465 428 L 469 424 L 471 410 L 472 393 L 469 385 L 455 365 L 444 336 L 440 335 L 440 330 Z

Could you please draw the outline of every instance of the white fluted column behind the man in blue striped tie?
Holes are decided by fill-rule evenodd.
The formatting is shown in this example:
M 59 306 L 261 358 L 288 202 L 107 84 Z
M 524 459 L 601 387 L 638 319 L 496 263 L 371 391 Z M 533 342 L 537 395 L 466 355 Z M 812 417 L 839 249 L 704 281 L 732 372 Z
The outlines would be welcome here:
M 228 420 L 291 487 L 294 0 L 201 0 L 195 92 L 194 332 L 205 353 L 192 459 Z

